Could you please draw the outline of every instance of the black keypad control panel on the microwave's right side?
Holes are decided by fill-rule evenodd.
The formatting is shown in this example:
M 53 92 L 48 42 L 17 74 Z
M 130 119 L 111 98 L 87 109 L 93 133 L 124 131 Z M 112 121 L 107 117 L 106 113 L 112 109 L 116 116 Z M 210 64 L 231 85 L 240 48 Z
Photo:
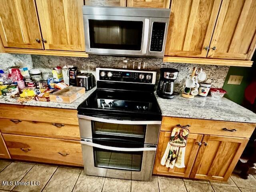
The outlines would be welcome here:
M 150 51 L 162 52 L 166 23 L 154 22 L 150 42 Z

